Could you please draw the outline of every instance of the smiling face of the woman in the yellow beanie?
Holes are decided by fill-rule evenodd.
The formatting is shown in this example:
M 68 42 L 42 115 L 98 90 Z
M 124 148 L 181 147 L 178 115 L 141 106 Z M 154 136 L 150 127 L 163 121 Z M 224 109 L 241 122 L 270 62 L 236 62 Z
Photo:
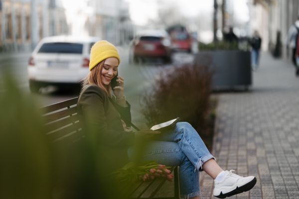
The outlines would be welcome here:
M 110 84 L 112 78 L 117 74 L 118 59 L 115 57 L 109 57 L 105 60 L 104 67 L 101 73 L 101 79 L 105 86 Z

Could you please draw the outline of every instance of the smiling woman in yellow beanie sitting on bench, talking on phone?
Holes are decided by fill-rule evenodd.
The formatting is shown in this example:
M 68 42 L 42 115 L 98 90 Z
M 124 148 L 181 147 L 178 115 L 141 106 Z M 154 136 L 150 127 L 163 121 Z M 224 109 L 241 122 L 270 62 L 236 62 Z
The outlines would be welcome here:
M 144 129 L 136 133 L 122 120 L 109 98 L 131 120 L 130 104 L 124 97 L 124 78 L 118 76 L 119 86 L 111 91 L 111 80 L 120 65 L 117 49 L 107 41 L 99 41 L 91 49 L 90 73 L 84 79 L 78 100 L 78 114 L 84 125 L 87 140 L 101 157 L 101 163 L 110 163 L 107 172 L 121 168 L 133 158 L 136 137 L 151 137 L 143 160 L 158 160 L 158 164 L 179 166 L 181 198 L 197 199 L 200 195 L 199 172 L 205 171 L 214 179 L 214 196 L 224 199 L 251 190 L 256 178 L 246 178 L 223 171 L 209 153 L 196 130 L 186 122 L 160 133 Z M 126 120 L 125 120 L 126 121 Z

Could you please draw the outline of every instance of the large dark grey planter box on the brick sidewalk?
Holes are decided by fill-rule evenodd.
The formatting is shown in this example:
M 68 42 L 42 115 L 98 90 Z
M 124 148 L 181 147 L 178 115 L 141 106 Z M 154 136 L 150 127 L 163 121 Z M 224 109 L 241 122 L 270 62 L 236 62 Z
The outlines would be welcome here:
M 208 65 L 214 71 L 213 89 L 252 85 L 251 52 L 239 50 L 201 51 L 195 56 L 198 66 Z

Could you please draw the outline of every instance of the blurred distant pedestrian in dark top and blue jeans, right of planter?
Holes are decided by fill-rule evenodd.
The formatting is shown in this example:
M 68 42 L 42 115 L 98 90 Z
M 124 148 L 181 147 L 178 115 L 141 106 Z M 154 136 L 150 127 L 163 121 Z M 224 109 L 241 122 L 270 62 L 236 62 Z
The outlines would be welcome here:
M 257 70 L 258 65 L 259 65 L 259 57 L 260 57 L 260 49 L 261 49 L 261 44 L 262 44 L 262 39 L 259 36 L 258 31 L 254 31 L 254 36 L 250 41 L 251 46 L 252 46 L 252 51 L 251 51 L 251 65 L 252 65 L 252 70 Z

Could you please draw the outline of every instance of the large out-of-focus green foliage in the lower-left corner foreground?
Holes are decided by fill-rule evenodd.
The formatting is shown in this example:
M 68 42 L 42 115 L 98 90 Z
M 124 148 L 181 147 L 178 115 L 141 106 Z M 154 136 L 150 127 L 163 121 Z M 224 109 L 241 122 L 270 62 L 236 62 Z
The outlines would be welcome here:
M 2 76 L 0 91 L 0 198 L 48 199 L 52 162 L 37 103 Z

